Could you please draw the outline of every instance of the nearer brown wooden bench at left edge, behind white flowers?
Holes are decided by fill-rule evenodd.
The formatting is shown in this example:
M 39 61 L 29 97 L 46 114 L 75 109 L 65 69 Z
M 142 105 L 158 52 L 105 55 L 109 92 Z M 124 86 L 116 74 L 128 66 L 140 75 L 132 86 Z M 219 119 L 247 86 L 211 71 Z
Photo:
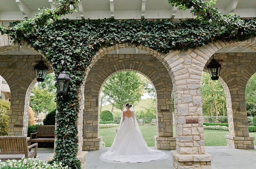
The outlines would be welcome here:
M 37 144 L 28 146 L 27 136 L 0 136 L 0 159 L 5 161 L 8 159 L 36 158 Z M 28 151 L 35 147 L 34 151 Z

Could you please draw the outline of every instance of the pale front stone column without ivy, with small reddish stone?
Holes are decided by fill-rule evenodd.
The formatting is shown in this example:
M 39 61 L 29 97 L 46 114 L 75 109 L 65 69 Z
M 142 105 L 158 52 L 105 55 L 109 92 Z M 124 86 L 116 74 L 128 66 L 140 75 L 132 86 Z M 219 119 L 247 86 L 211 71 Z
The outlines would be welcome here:
M 196 51 L 195 51 L 196 50 Z M 171 151 L 173 168 L 210 169 L 212 155 L 205 153 L 201 97 L 201 74 L 205 58 L 200 50 L 175 51 L 167 55 L 174 84 L 176 150 Z M 196 53 L 200 53 L 196 54 Z

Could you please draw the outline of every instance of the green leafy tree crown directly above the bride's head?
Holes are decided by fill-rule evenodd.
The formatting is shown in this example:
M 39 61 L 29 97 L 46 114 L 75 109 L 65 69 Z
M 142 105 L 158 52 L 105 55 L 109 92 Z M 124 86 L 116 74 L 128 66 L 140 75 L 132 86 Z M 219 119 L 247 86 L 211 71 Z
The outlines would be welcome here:
M 125 103 L 135 105 L 146 91 L 147 82 L 138 73 L 123 71 L 111 76 L 103 85 L 102 92 L 113 107 L 124 108 Z

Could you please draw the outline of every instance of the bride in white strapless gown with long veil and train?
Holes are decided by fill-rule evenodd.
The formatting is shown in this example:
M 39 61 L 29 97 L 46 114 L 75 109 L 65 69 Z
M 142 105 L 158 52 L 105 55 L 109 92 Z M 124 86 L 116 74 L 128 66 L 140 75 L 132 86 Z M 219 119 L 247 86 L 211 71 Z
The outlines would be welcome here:
M 162 151 L 148 148 L 135 118 L 132 105 L 125 104 L 119 130 L 110 150 L 100 155 L 100 159 L 108 162 L 137 163 L 161 160 L 169 156 Z

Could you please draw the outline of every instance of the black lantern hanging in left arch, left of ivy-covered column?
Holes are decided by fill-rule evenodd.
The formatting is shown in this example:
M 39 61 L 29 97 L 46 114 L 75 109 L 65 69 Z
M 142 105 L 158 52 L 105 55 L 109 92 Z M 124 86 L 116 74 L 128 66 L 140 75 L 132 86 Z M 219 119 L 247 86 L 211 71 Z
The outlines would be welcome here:
M 47 70 L 49 70 L 49 66 L 44 64 L 43 56 L 41 57 L 41 61 L 33 66 L 33 70 L 36 72 L 36 80 L 37 82 L 43 82 L 44 77 L 46 75 Z

